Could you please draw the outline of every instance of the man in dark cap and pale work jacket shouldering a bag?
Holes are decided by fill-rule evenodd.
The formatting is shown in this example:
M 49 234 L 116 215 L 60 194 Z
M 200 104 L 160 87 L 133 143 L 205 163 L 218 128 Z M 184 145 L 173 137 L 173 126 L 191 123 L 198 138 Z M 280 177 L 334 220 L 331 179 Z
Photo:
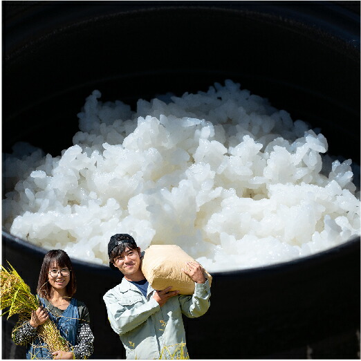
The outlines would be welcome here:
M 108 244 L 109 266 L 120 270 L 122 282 L 103 297 L 111 328 L 131 359 L 174 358 L 187 355 L 182 313 L 199 317 L 210 307 L 210 284 L 198 263 L 187 262 L 185 272 L 195 282 L 193 295 L 178 295 L 149 286 L 140 268 L 140 248 L 129 234 L 115 234 Z

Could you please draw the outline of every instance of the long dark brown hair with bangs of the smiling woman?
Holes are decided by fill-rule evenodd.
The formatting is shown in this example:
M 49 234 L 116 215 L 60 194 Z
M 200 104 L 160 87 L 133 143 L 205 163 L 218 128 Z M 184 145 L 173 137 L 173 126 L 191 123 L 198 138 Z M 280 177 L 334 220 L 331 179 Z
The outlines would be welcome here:
M 53 287 L 48 282 L 48 276 L 50 266 L 52 266 L 53 263 L 55 263 L 58 267 L 66 267 L 71 270 L 70 275 L 68 276 L 70 277 L 70 280 L 66 285 L 66 294 L 68 297 L 73 297 L 75 291 L 77 290 L 77 282 L 71 265 L 71 259 L 64 250 L 50 250 L 45 254 L 40 270 L 39 281 L 37 282 L 37 294 L 46 299 L 51 298 L 53 294 Z

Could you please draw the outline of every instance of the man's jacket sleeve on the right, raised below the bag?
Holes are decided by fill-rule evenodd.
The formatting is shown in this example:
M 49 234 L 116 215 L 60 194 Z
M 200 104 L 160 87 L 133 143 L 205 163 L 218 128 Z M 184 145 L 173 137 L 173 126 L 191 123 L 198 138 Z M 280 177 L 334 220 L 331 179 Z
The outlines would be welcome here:
M 189 318 L 204 315 L 210 308 L 210 284 L 208 280 L 204 284 L 197 284 L 193 295 L 179 296 L 182 313 Z

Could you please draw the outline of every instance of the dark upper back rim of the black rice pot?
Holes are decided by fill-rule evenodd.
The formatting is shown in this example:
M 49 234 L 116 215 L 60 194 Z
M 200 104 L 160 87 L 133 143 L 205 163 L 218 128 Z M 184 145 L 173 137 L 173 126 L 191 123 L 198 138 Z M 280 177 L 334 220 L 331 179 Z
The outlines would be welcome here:
M 38 4 L 36 4 L 38 2 Z M 19 56 L 28 49 L 24 44 L 27 37 L 32 46 L 44 41 L 47 37 L 71 31 L 79 26 L 89 26 L 113 17 L 144 16 L 148 13 L 161 12 L 199 12 L 234 15 L 257 19 L 259 21 L 286 26 L 288 30 L 298 31 L 310 39 L 315 39 L 328 46 L 343 48 L 344 53 L 351 53 L 355 59 L 360 59 L 360 16 L 352 5 L 344 6 L 342 3 L 332 1 L 183 1 L 174 5 L 173 1 L 149 1 L 149 4 L 134 5 L 132 1 L 104 1 L 104 5 L 96 3 L 73 6 L 72 1 L 62 1 L 60 5 L 42 4 L 35 1 L 34 5 L 25 6 L 21 11 L 5 17 L 6 30 L 5 60 Z M 64 8 L 73 6 L 72 11 Z M 320 11 L 320 9 L 324 11 Z M 21 15 L 23 24 L 21 24 Z M 33 15 L 41 16 L 41 26 L 35 25 L 29 19 Z M 55 15 L 55 16 L 54 16 Z M 43 21 L 44 20 L 44 21 Z M 19 26 L 24 31 L 19 35 Z

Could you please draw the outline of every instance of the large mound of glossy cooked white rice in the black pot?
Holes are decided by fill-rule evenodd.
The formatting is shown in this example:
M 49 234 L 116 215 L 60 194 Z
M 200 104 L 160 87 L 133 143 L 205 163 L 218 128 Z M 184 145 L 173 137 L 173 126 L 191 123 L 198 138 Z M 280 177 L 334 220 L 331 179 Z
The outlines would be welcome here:
M 360 234 L 351 160 L 332 160 L 321 133 L 239 84 L 138 100 L 136 112 L 100 96 L 86 99 L 62 156 L 24 143 L 6 155 L 11 234 L 108 264 L 111 235 L 129 233 L 142 250 L 176 244 L 210 272 Z

